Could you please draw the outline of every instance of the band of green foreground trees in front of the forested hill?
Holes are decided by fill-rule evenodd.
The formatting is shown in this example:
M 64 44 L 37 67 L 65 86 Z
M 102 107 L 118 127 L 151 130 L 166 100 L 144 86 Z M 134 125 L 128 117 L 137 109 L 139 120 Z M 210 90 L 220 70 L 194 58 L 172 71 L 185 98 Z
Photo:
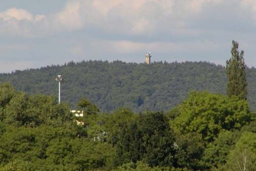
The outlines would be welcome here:
M 256 115 L 245 99 L 192 91 L 165 113 L 78 106 L 82 117 L 1 83 L 0 170 L 256 170 Z

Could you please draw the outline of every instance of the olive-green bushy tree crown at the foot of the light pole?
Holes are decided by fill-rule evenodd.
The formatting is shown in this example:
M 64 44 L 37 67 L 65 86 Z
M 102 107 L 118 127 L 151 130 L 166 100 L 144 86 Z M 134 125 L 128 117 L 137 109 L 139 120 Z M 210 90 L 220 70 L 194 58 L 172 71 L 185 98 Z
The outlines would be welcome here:
M 4 110 L 4 122 L 16 126 L 59 125 L 73 121 L 67 103 L 58 104 L 56 98 L 46 95 L 26 95 L 16 92 Z

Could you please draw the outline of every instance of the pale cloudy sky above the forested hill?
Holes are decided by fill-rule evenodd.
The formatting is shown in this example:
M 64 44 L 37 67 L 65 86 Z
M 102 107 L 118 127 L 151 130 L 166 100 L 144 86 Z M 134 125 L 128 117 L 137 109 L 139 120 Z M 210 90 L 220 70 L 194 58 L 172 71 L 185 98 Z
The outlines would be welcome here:
M 81 60 L 209 61 L 231 41 L 256 67 L 255 0 L 1 0 L 0 72 Z

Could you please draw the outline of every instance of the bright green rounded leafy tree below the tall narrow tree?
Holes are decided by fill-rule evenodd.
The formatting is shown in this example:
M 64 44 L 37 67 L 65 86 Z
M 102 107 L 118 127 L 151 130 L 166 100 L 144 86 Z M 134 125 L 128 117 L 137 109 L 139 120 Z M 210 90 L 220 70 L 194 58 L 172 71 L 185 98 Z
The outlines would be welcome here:
M 214 141 L 223 130 L 241 129 L 252 117 L 245 99 L 209 92 L 193 91 L 177 108 L 176 118 L 170 121 L 174 131 L 196 132 L 205 144 Z

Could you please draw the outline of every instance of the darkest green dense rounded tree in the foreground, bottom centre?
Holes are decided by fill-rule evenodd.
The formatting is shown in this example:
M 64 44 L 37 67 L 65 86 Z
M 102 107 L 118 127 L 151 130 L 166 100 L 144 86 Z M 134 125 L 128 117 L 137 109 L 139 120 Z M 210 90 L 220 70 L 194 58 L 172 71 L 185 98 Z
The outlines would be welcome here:
M 161 112 L 139 115 L 117 137 L 117 163 L 143 161 L 150 166 L 173 166 L 173 133 Z

